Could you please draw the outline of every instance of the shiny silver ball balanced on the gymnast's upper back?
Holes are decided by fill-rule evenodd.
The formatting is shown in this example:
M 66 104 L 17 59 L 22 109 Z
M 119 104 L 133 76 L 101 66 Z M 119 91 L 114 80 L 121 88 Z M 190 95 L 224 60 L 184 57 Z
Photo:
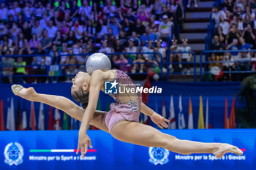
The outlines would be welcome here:
M 111 62 L 107 55 L 103 53 L 94 53 L 89 56 L 86 61 L 86 70 L 89 74 L 92 74 L 94 70 L 110 70 Z

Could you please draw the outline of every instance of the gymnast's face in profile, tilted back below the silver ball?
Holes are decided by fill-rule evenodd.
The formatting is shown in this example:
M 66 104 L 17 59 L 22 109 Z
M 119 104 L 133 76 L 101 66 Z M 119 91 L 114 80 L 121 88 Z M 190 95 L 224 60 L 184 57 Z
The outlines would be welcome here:
M 72 79 L 73 85 L 71 87 L 71 93 L 77 92 L 81 88 L 84 91 L 88 91 L 90 78 L 90 74 L 86 72 L 78 72 L 78 74 L 76 74 L 75 77 Z

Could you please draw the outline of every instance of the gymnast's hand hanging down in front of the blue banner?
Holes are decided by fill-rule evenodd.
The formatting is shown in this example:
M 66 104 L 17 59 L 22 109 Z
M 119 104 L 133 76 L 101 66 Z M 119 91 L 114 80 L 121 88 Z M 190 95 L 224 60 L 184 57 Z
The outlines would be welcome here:
M 79 149 L 81 148 L 82 158 L 84 158 L 84 155 L 86 155 L 86 152 L 88 150 L 88 145 L 89 145 L 89 147 L 92 148 L 92 146 L 91 146 L 91 139 L 89 138 L 89 136 L 86 134 L 85 131 L 83 131 L 83 133 L 81 133 L 79 131 L 77 154 L 79 152 Z

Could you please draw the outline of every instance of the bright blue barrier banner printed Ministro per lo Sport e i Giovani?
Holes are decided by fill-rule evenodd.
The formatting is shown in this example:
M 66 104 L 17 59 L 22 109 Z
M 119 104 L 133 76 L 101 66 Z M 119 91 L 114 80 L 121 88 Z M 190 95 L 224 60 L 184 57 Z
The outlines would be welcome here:
M 227 153 L 180 155 L 158 147 L 142 147 L 114 139 L 104 131 L 88 131 L 93 148 L 85 158 L 75 154 L 78 131 L 1 131 L 0 169 L 256 169 L 255 129 L 162 130 L 179 139 L 227 142 L 244 155 Z

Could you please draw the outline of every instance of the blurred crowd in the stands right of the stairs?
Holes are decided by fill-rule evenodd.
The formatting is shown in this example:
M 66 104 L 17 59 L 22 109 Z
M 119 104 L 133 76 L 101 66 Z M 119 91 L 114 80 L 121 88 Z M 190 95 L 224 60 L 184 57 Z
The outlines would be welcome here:
M 208 80 L 242 80 L 246 72 L 256 70 L 256 53 L 246 52 L 256 49 L 255 12 L 255 0 L 223 0 L 219 7 L 213 7 L 211 18 L 215 23 L 215 34 L 210 50 L 245 51 L 211 53 Z M 243 73 L 233 74 L 233 71 Z

